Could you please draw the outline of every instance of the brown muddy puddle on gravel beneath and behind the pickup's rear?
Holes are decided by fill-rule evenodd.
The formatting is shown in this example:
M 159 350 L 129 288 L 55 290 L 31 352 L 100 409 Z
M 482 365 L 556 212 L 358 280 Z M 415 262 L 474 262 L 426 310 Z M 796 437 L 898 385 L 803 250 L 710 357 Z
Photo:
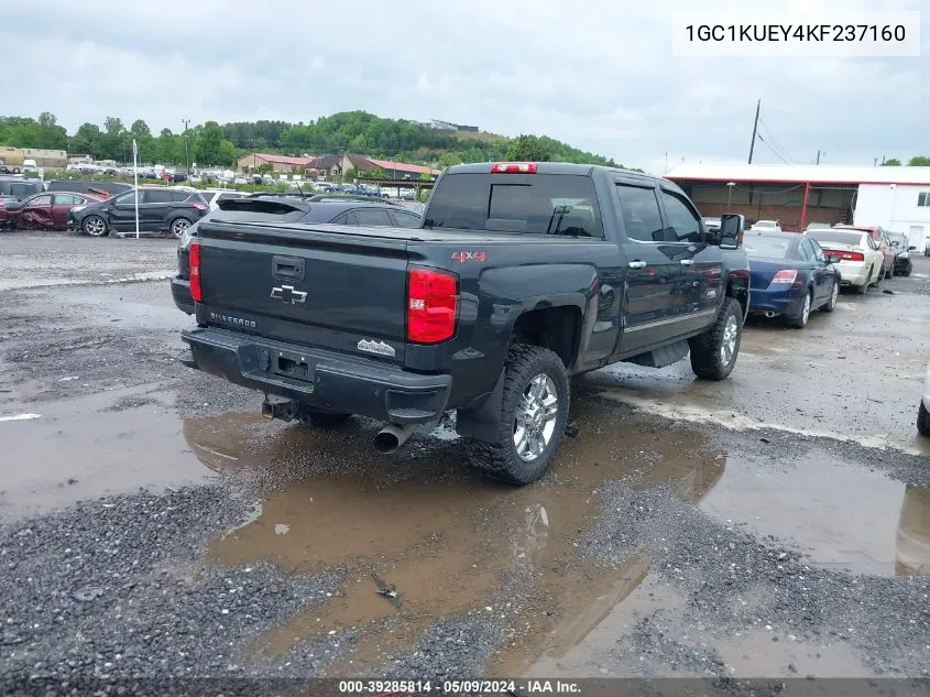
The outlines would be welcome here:
M 601 483 L 648 466 L 642 486 L 674 479 L 697 499 L 720 478 L 724 460 L 691 432 L 621 420 L 601 404 L 580 402 L 575 412 L 581 435 L 566 439 L 549 478 L 522 489 L 483 479 L 466 467 L 458 444 L 442 439 L 419 437 L 403 458 L 378 458 L 370 449 L 373 431 L 347 438 L 295 427 L 245 443 L 233 435 L 244 416 L 188 422 L 192 449 L 216 469 L 244 475 L 267 467 L 293 478 L 302 453 L 344 464 L 322 466 L 267 494 L 256 520 L 210 545 L 209 557 L 220 565 L 264 560 L 295 574 L 344 570 L 339 593 L 260 638 L 255 650 L 282 654 L 347 632 L 351 650 L 328 671 L 339 676 L 376 668 L 445 617 L 477 614 L 504 625 L 505 644 L 517 656 L 506 668 L 552 642 L 583 640 L 648 569 L 645 552 L 616 567 L 578 554 L 578 534 L 600 512 Z M 400 597 L 379 595 L 378 581 Z M 507 582 L 521 591 L 502 592 Z

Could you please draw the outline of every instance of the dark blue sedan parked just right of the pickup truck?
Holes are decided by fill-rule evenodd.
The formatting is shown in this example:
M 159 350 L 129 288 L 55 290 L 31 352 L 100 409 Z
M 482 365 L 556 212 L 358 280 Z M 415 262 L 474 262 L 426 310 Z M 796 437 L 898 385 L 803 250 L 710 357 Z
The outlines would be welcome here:
M 828 258 L 817 240 L 791 232 L 746 232 L 750 312 L 783 316 L 807 326 L 811 312 L 833 312 L 840 296 L 839 258 Z

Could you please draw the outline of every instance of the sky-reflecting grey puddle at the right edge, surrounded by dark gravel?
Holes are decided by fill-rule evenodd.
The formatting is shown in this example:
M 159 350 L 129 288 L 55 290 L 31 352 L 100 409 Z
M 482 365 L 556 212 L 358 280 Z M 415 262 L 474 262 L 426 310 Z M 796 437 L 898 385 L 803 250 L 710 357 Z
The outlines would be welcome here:
M 701 508 L 774 535 L 805 562 L 871 576 L 930 574 L 930 489 L 906 487 L 821 449 L 766 467 L 762 456 L 731 457 L 726 477 Z

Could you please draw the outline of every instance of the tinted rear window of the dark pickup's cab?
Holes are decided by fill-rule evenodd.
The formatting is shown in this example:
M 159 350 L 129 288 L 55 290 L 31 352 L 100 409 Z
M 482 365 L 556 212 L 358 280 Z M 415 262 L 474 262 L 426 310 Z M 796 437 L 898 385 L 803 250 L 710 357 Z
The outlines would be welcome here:
M 426 216 L 426 228 L 604 237 L 593 181 L 570 174 L 449 174 Z

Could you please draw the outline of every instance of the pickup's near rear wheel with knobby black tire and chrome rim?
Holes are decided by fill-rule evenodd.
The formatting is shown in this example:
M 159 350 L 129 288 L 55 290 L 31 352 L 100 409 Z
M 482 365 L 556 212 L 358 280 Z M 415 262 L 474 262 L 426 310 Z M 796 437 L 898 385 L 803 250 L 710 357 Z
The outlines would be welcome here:
M 551 396 L 555 396 L 555 403 L 549 401 Z M 568 370 L 562 360 L 549 349 L 513 345 L 504 360 L 497 440 L 466 439 L 469 464 L 508 484 L 536 481 L 546 473 L 559 449 L 568 423 L 569 403 Z M 535 436 L 530 435 L 534 431 Z M 521 445 L 541 445 L 541 450 L 521 455 L 517 440 Z

